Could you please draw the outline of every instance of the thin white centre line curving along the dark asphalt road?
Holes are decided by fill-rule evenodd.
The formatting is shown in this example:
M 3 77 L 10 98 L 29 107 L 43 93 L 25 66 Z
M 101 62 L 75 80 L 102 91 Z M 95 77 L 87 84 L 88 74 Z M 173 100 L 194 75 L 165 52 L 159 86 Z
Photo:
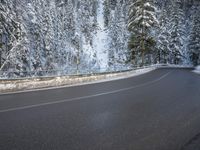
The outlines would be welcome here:
M 88 98 L 99 97 L 99 96 L 103 96 L 103 95 L 109 95 L 109 94 L 115 94 L 115 93 L 119 93 L 119 92 L 123 92 L 123 91 L 128 91 L 128 90 L 131 90 L 131 89 L 135 89 L 135 88 L 139 88 L 139 87 L 143 87 L 143 86 L 147 86 L 147 85 L 156 83 L 156 82 L 164 79 L 165 77 L 167 77 L 171 72 L 172 71 L 166 73 L 165 75 L 161 76 L 160 78 L 158 78 L 156 80 L 149 81 L 149 82 L 139 84 L 139 85 L 136 85 L 136 86 L 131 86 L 131 87 L 128 87 L 128 88 L 123 88 L 123 89 L 114 90 L 114 91 L 105 92 L 105 93 L 99 93 L 99 94 L 95 94 L 95 95 L 75 97 L 75 98 L 70 98 L 70 99 L 65 99 L 65 100 L 60 100 L 60 101 L 55 101 L 55 102 L 40 103 L 40 104 L 35 104 L 35 105 L 23 106 L 23 107 L 9 108 L 9 109 L 0 110 L 0 113 L 29 109 L 29 108 L 35 108 L 35 107 L 40 107 L 40 106 L 52 105 L 52 104 L 59 104 L 59 103 L 70 102 L 70 101 L 77 101 L 77 100 L 82 100 L 82 99 L 88 99 Z

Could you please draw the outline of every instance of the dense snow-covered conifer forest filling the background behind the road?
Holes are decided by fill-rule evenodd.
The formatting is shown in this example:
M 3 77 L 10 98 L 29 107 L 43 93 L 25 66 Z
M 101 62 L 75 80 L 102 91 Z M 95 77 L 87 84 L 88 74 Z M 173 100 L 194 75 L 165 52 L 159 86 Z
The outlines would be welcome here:
M 0 74 L 200 64 L 199 0 L 0 0 Z

